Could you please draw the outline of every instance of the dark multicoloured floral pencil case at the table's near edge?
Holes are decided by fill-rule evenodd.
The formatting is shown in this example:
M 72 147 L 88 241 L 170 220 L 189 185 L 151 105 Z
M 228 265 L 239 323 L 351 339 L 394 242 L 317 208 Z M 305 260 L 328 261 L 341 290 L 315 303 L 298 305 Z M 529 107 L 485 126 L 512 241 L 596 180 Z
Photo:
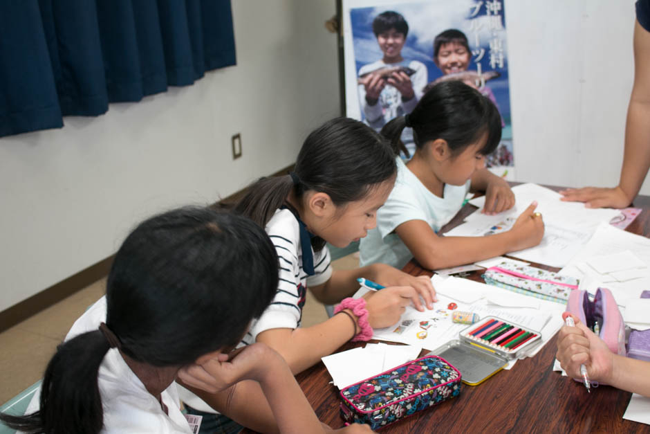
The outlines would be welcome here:
M 460 392 L 461 372 L 445 359 L 425 356 L 341 390 L 341 415 L 374 431 Z

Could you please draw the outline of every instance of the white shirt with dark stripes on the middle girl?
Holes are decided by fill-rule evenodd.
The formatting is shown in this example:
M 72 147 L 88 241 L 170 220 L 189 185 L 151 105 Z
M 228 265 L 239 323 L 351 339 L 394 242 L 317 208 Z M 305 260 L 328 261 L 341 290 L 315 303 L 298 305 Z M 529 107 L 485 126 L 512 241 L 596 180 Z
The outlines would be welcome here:
M 300 226 L 290 210 L 277 210 L 266 224 L 265 229 L 279 257 L 278 288 L 271 304 L 257 320 L 253 320 L 248 333 L 239 346 L 254 343 L 257 335 L 268 329 L 299 327 L 307 287 L 324 284 L 332 277 L 331 258 L 326 247 L 316 253 L 311 249 L 315 274 L 308 276 L 304 271 Z M 205 413 L 216 413 L 212 407 L 194 393 L 182 386 L 179 386 L 178 389 L 180 390 L 180 399 L 185 404 Z

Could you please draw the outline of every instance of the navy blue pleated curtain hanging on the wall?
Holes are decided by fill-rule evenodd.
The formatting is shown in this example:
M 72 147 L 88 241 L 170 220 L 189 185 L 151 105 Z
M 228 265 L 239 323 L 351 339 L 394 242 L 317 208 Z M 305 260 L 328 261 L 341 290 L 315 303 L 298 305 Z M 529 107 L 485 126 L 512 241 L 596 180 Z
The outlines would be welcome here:
M 230 0 L 1 0 L 0 136 L 235 63 Z

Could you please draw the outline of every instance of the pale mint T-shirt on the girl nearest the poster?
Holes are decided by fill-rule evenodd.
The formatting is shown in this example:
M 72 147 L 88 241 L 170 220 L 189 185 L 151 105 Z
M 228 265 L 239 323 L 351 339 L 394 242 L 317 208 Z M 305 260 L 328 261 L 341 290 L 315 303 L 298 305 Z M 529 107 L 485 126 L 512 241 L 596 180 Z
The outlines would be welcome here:
M 463 186 L 445 185 L 443 197 L 434 195 L 424 186 L 401 159 L 397 161 L 397 179 L 386 203 L 377 212 L 377 227 L 361 239 L 360 264 L 375 262 L 390 264 L 398 269 L 411 260 L 413 254 L 394 232 L 405 221 L 423 220 L 438 232 L 449 223 L 463 206 L 470 190 L 470 181 Z

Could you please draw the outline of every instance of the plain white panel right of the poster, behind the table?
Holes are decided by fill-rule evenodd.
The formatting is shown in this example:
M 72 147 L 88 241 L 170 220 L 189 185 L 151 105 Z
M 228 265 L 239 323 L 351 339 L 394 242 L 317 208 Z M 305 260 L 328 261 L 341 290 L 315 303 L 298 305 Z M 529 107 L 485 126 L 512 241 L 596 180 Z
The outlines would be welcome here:
M 505 19 L 517 180 L 615 186 L 634 0 L 506 0 Z M 650 194 L 650 182 L 641 192 Z

